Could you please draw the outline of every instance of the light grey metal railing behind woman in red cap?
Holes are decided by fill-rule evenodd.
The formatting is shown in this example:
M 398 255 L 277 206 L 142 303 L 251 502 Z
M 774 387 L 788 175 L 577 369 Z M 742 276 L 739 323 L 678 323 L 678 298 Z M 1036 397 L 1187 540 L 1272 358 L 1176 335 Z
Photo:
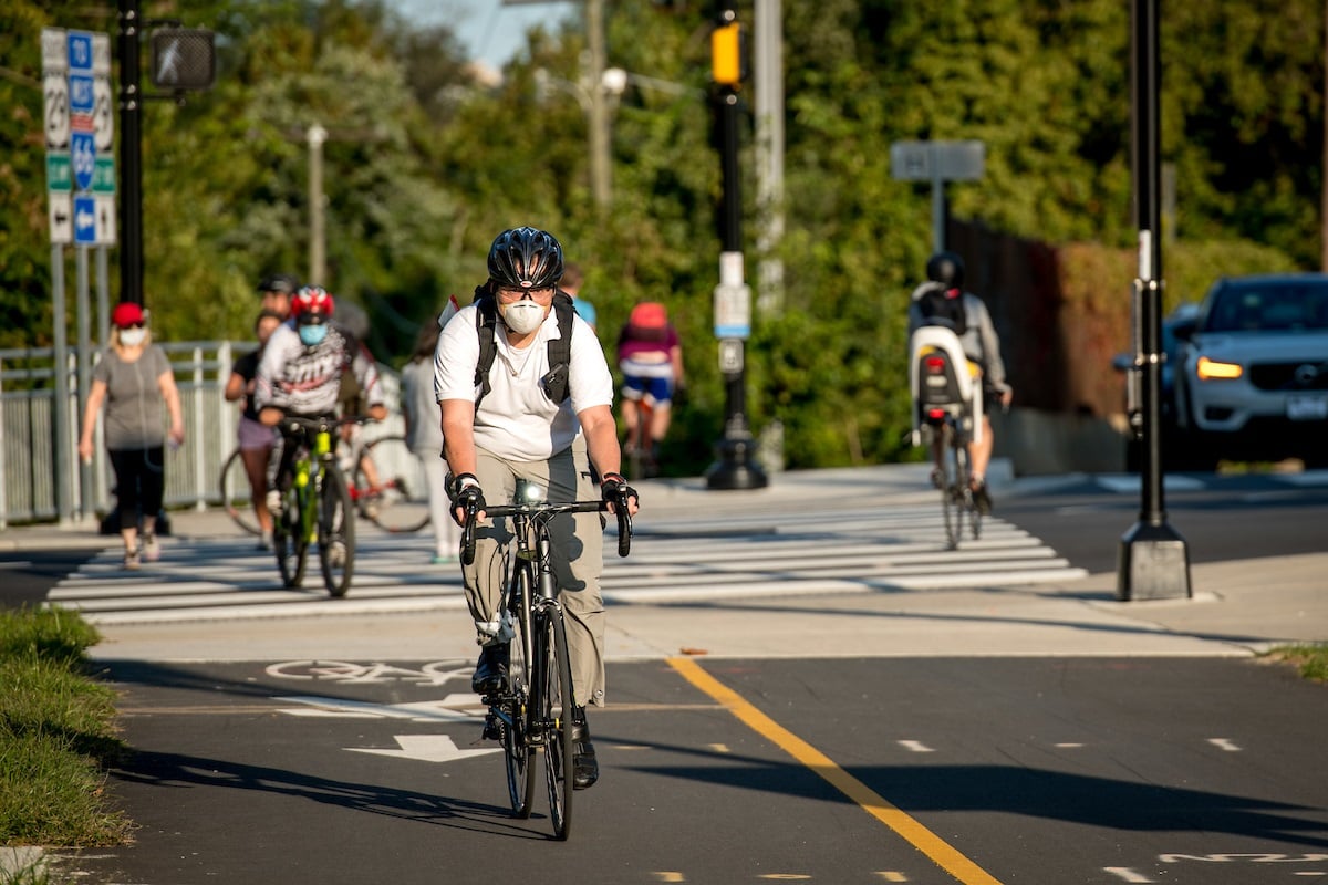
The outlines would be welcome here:
M 167 450 L 166 498 L 170 510 L 205 510 L 219 504 L 220 470 L 236 444 L 239 403 L 226 401 L 226 381 L 235 358 L 254 349 L 252 341 L 159 342 L 179 386 L 185 417 L 185 444 Z M 78 460 L 78 431 L 85 391 L 78 387 L 77 358 L 65 368 L 69 398 L 64 403 L 69 433 L 68 452 L 56 443 L 56 365 L 52 348 L 0 349 L 0 529 L 11 523 L 60 519 L 56 474 L 70 470 L 73 506 L 84 519 L 114 507 L 114 472 L 101 444 L 90 464 Z M 388 421 L 368 429 L 372 437 L 401 433 L 400 375 L 378 364 L 388 403 Z

